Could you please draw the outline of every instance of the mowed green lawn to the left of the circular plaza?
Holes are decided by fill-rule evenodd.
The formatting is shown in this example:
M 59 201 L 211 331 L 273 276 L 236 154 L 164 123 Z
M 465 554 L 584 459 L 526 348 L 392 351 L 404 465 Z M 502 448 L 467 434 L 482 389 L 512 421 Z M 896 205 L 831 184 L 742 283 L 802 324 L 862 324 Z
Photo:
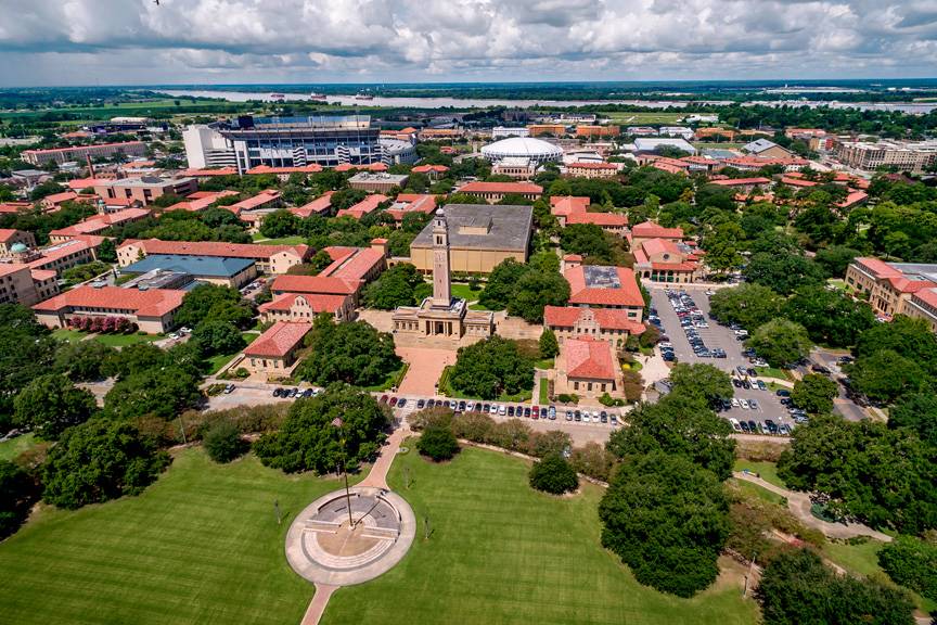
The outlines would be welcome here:
M 44 509 L 0 544 L 0 621 L 297 624 L 313 590 L 283 540 L 305 506 L 337 487 L 253 456 L 219 465 L 187 449 L 143 495 Z

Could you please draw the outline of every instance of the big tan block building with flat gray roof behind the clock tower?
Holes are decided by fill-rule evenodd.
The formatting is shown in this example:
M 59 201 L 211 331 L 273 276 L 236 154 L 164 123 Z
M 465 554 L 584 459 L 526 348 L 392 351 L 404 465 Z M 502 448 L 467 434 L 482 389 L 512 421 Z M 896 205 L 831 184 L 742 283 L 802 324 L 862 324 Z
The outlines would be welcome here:
M 490 273 L 506 258 L 527 262 L 532 231 L 530 206 L 449 204 L 446 206 L 450 270 Z M 410 244 L 410 260 L 423 273 L 434 268 L 435 235 L 431 221 Z

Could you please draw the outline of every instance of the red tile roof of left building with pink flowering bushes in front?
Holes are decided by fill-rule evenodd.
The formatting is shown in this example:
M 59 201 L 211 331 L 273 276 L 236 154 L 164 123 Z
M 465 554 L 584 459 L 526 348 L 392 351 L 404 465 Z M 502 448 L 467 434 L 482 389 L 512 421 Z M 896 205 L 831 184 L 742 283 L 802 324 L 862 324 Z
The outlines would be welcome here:
M 162 317 L 182 305 L 184 291 L 170 289 L 120 289 L 119 286 L 78 286 L 33 306 L 34 310 L 60 311 L 63 308 L 114 308 L 139 317 Z

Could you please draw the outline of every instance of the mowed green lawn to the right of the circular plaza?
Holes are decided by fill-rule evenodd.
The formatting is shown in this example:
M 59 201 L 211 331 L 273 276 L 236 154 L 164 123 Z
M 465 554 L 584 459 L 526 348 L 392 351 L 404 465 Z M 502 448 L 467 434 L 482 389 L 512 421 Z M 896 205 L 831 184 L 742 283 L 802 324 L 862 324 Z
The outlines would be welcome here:
M 602 489 L 586 484 L 574 497 L 552 497 L 527 485 L 527 471 L 523 460 L 475 448 L 444 464 L 398 456 L 389 481 L 420 520 L 413 546 L 381 577 L 336 591 L 322 623 L 757 622 L 755 602 L 734 583 L 689 600 L 639 585 L 600 545 Z

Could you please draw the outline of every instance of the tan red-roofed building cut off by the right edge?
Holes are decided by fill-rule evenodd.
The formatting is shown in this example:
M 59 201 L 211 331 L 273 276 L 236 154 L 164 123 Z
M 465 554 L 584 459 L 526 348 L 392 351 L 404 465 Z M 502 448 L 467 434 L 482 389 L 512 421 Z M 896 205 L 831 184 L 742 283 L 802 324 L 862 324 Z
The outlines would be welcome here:
M 937 265 L 858 257 L 846 269 L 846 283 L 864 294 L 876 315 L 890 319 L 908 314 L 915 293 L 937 288 Z

